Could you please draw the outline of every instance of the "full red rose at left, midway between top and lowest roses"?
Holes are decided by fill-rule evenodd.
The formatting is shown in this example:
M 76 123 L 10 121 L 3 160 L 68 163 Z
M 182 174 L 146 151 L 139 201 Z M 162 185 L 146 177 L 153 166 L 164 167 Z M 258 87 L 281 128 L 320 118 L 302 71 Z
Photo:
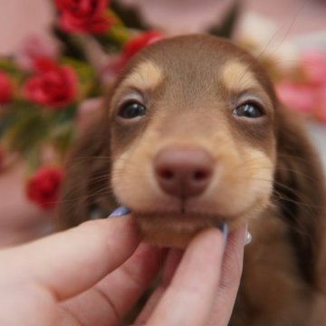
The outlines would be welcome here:
M 38 73 L 24 84 L 27 100 L 57 108 L 75 99 L 77 77 L 71 67 L 45 59 L 36 61 L 35 67 Z

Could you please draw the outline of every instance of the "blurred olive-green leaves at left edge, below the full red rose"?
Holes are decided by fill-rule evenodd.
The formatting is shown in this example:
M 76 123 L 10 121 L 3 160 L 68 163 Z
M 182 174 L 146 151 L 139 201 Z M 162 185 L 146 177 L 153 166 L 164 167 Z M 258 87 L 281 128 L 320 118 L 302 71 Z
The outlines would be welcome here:
M 30 102 L 7 105 L 0 124 L 0 135 L 6 149 L 18 152 L 31 169 L 37 168 L 39 154 L 51 145 L 63 158 L 74 139 L 77 107 L 51 110 Z

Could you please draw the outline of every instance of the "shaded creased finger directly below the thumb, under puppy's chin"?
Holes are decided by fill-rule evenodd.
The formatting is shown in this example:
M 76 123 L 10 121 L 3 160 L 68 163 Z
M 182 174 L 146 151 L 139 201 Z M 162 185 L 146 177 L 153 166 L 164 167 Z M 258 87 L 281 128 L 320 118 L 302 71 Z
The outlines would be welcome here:
M 62 304 L 82 325 L 115 325 L 148 288 L 162 264 L 163 251 L 140 244 L 120 268 L 87 292 Z M 62 314 L 63 320 L 66 313 Z

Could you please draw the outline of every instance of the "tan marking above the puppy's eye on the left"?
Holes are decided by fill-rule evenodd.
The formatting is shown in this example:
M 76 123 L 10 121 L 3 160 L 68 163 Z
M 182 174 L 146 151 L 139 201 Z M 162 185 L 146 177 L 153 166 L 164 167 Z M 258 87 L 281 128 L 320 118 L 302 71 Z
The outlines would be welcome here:
M 121 83 L 122 88 L 153 89 L 163 79 L 163 72 L 154 62 L 141 62 Z

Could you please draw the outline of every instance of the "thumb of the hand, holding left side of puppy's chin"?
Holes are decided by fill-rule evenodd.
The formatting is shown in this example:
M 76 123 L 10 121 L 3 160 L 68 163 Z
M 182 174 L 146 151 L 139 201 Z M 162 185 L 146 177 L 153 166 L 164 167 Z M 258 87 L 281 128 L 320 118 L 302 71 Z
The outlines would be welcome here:
M 83 292 L 123 264 L 139 245 L 131 216 L 86 222 L 0 253 L 7 277 L 36 283 L 58 301 Z

